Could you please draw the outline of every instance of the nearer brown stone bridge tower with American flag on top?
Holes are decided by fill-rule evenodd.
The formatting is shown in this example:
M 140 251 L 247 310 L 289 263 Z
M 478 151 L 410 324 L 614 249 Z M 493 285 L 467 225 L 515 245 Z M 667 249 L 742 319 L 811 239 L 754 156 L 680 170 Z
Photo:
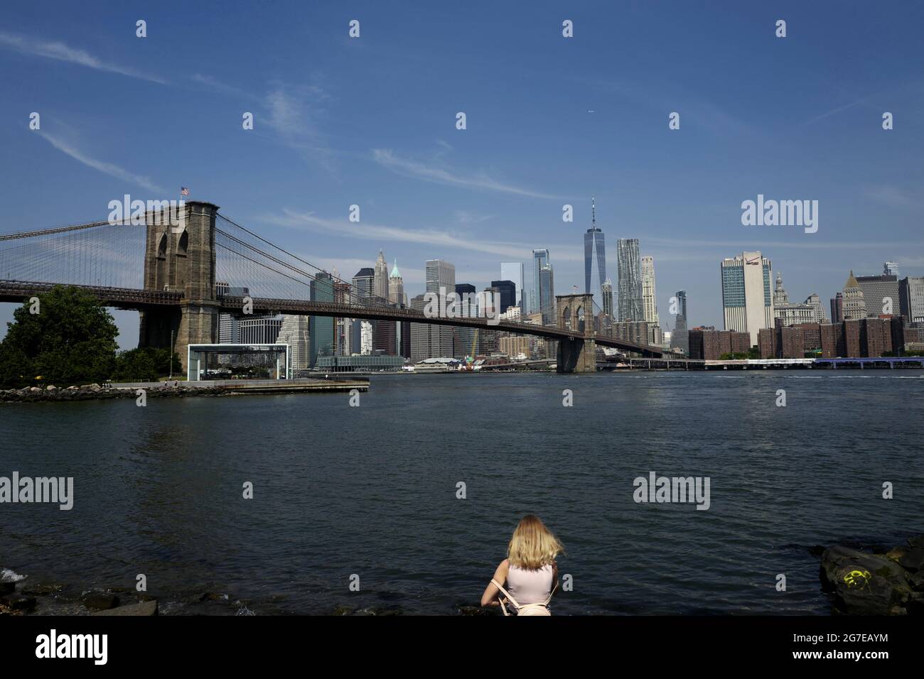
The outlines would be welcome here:
M 148 212 L 144 246 L 144 289 L 183 293 L 177 309 L 140 312 L 139 346 L 170 346 L 186 370 L 187 346 L 218 340 L 215 297 L 215 215 L 218 206 L 190 200 L 171 212 Z

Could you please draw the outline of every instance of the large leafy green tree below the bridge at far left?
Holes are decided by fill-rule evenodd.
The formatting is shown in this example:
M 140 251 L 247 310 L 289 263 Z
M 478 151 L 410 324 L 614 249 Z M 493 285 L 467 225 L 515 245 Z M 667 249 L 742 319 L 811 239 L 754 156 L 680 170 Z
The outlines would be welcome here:
M 116 363 L 118 329 L 94 297 L 74 286 L 41 293 L 13 312 L 0 342 L 0 383 L 6 386 L 103 382 Z

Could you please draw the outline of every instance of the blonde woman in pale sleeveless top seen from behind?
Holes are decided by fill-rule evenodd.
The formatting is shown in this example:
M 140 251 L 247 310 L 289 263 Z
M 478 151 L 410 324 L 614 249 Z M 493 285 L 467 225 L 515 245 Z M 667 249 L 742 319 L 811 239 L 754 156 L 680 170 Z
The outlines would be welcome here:
M 507 545 L 507 558 L 481 595 L 481 605 L 500 606 L 505 615 L 510 614 L 505 602 L 517 615 L 551 615 L 549 601 L 558 587 L 555 557 L 563 552 L 562 543 L 538 516 L 524 516 Z

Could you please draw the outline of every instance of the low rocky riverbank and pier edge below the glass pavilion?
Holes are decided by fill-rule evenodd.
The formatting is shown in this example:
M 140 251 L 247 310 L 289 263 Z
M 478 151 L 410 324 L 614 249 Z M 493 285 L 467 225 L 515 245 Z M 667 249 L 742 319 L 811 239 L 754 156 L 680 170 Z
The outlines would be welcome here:
M 23 389 L 0 390 L 0 403 L 41 403 L 137 398 L 143 390 L 147 398 L 188 398 L 193 396 L 232 396 L 241 394 L 304 394 L 310 392 L 369 391 L 369 380 L 222 380 L 213 382 L 119 382 L 83 384 L 65 388 L 54 384 Z

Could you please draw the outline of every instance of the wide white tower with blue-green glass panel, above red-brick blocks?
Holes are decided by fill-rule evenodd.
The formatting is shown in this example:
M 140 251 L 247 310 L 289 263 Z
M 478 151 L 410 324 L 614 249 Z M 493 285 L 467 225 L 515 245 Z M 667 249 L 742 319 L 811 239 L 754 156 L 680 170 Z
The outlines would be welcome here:
M 750 334 L 757 346 L 762 328 L 773 327 L 771 262 L 758 252 L 742 252 L 722 261 L 722 307 L 725 330 Z

